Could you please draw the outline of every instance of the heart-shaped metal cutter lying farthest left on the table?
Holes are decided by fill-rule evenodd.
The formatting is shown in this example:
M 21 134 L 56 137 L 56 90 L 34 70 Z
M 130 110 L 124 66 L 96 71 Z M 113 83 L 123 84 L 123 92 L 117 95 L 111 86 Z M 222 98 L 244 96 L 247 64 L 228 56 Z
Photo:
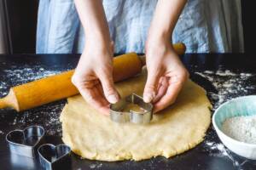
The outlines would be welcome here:
M 9 150 L 20 156 L 35 157 L 38 146 L 43 143 L 44 127 L 31 126 L 14 130 L 6 135 Z

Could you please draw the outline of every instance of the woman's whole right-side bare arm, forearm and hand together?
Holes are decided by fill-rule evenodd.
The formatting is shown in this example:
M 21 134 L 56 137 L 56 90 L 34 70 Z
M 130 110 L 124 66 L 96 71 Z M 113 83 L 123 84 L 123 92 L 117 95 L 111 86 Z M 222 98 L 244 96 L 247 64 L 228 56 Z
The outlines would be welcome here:
M 172 105 L 189 77 L 170 40 L 172 31 L 187 0 L 159 0 L 146 44 L 148 79 L 144 89 L 145 102 L 154 103 L 154 112 Z

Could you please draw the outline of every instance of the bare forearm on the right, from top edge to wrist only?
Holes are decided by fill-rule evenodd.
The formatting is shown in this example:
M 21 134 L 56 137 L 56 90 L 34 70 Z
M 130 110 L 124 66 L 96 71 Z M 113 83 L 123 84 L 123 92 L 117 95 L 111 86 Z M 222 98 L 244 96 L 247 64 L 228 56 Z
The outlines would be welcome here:
M 170 41 L 172 31 L 187 0 L 159 0 L 148 31 L 148 41 Z

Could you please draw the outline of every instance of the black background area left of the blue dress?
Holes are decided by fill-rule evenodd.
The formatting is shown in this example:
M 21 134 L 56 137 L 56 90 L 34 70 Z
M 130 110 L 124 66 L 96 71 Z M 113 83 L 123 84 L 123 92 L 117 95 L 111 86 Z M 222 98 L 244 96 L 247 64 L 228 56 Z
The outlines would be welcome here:
M 39 0 L 6 0 L 14 54 L 36 52 Z

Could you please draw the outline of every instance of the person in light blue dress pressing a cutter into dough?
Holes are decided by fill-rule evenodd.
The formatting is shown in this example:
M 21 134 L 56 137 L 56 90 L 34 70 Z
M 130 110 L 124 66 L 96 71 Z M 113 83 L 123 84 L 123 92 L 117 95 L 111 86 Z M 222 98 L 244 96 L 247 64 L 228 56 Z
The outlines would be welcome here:
M 172 42 L 184 42 L 189 52 L 243 50 L 239 1 L 74 0 L 84 29 L 71 0 L 46 2 L 41 0 L 38 10 L 37 52 L 82 52 L 73 84 L 106 115 L 109 104 L 119 100 L 113 86 L 114 52 L 145 52 L 148 77 L 143 99 L 154 103 L 157 112 L 175 102 L 189 77 Z M 231 10 L 230 4 L 236 8 Z M 225 7 L 224 19 L 219 5 Z M 230 14 L 238 21 L 234 23 Z

